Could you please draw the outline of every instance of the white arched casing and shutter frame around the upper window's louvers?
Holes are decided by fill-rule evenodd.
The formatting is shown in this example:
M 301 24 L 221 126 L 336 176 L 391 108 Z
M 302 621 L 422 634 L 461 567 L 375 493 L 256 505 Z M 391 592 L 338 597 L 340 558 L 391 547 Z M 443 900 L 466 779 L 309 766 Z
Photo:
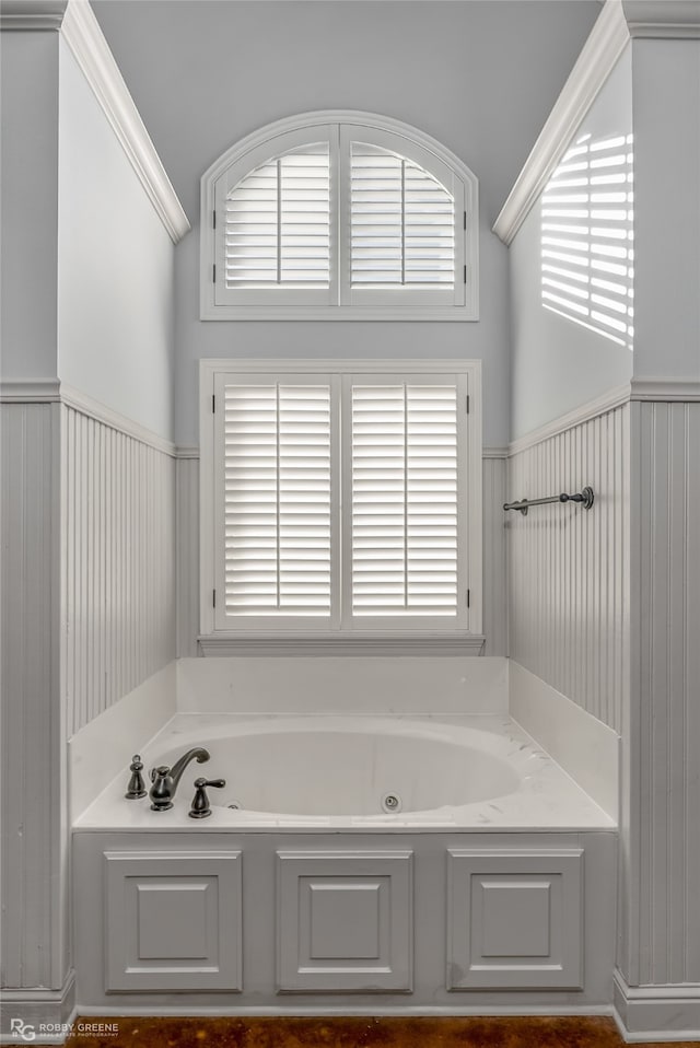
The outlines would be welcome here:
M 260 303 L 234 305 L 217 302 L 215 288 L 213 282 L 212 266 L 217 258 L 218 237 L 213 226 L 213 214 L 217 209 L 217 195 L 220 193 L 220 186 L 226 172 L 235 166 L 235 170 L 243 174 L 256 166 L 256 159 L 260 155 L 260 149 L 267 144 L 273 144 L 276 139 L 280 142 L 283 138 L 288 141 L 302 140 L 311 141 L 310 135 L 316 129 L 319 140 L 328 136 L 330 126 L 340 126 L 341 137 L 347 139 L 348 128 L 358 129 L 358 133 L 370 136 L 370 140 L 380 142 L 382 132 L 388 137 L 402 138 L 407 143 L 407 150 L 411 152 L 424 152 L 433 158 L 434 163 L 442 170 L 448 170 L 456 176 L 454 178 L 456 199 L 455 199 L 455 228 L 460 229 L 459 216 L 466 213 L 466 236 L 458 237 L 457 258 L 455 259 L 455 273 L 460 276 L 466 267 L 467 282 L 459 288 L 457 302 L 441 302 L 433 296 L 432 304 L 421 303 L 413 299 L 407 301 L 402 291 L 394 293 L 382 292 L 383 301 L 373 304 L 369 301 L 369 292 L 355 292 L 348 301 L 348 294 L 341 293 L 336 296 L 336 302 L 320 302 L 313 298 L 300 299 L 298 293 L 288 296 L 287 301 L 278 305 L 270 304 L 269 292 L 267 301 L 260 300 Z M 298 132 L 300 132 L 298 135 Z M 284 147 L 283 147 L 284 148 Z M 256 156 L 257 154 L 257 156 Z M 259 163 L 259 161 L 257 161 Z M 340 175 L 342 176 L 342 172 Z M 338 183 L 336 182 L 336 185 Z M 219 186 L 219 189 L 218 189 Z M 339 193 L 342 194 L 345 186 L 341 186 Z M 338 191 L 338 190 L 337 190 Z M 347 203 L 342 199 L 331 201 L 331 222 L 334 232 L 342 232 L 343 222 L 347 224 L 347 214 L 345 209 Z M 338 221 L 338 209 L 340 209 L 340 220 Z M 372 113 L 362 113 L 358 110 L 319 110 L 315 113 L 301 114 L 288 117 L 269 124 L 264 128 L 254 131 L 243 140 L 235 143 L 226 150 L 202 175 L 201 178 L 201 230 L 200 230 L 200 318 L 202 321 L 478 321 L 479 302 L 479 199 L 478 199 L 478 179 L 474 173 L 459 160 L 451 150 L 446 149 L 429 135 L 420 131 L 418 128 L 404 124 L 400 120 L 394 120 L 389 117 L 378 116 Z M 342 234 L 346 235 L 345 233 Z M 342 251 L 342 244 L 338 245 Z M 331 258 L 337 255 L 331 252 Z M 337 267 L 336 267 L 337 268 Z M 337 272 L 334 273 L 337 279 Z M 293 301 L 292 301 L 293 295 Z M 396 304 L 392 298 L 396 298 Z M 399 298 L 400 296 L 400 298 Z

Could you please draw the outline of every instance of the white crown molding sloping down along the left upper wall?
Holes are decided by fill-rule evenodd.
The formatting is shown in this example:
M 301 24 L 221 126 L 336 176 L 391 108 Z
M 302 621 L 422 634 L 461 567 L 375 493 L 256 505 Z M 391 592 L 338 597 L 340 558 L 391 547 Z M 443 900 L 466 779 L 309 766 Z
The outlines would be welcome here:
M 174 244 L 190 224 L 88 0 L 69 0 L 61 35 Z

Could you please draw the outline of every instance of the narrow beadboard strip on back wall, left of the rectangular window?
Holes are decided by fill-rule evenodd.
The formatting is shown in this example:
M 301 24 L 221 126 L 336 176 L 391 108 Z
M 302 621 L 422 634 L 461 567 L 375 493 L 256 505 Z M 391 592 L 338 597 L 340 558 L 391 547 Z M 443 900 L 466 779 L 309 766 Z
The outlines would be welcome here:
M 199 634 L 199 455 L 177 458 L 177 657 L 198 654 Z

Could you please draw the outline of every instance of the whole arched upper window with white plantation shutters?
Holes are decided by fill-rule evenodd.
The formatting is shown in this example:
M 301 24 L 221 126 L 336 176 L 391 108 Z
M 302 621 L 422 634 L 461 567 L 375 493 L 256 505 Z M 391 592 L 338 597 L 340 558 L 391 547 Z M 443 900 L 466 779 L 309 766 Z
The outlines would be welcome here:
M 202 178 L 202 319 L 477 319 L 478 184 L 370 114 L 279 121 Z

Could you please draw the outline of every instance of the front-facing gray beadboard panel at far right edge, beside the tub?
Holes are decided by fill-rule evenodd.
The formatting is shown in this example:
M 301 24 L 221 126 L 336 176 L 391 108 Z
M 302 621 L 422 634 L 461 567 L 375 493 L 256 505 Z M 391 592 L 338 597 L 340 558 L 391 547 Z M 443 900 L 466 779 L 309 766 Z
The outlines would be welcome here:
M 700 403 L 632 404 L 629 826 L 621 967 L 700 985 Z

